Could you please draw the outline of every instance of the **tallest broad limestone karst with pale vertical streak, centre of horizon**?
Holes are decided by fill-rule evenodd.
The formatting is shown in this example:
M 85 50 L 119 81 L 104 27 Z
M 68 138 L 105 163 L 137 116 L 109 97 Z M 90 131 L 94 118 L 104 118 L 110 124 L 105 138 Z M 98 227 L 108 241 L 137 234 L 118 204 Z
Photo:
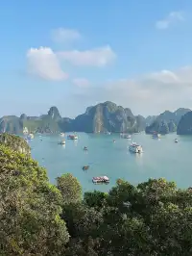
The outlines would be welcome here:
M 86 109 L 84 115 L 74 120 L 74 130 L 77 132 L 138 132 L 145 127 L 145 118 L 134 116 L 130 109 L 124 109 L 112 102 L 100 103 Z

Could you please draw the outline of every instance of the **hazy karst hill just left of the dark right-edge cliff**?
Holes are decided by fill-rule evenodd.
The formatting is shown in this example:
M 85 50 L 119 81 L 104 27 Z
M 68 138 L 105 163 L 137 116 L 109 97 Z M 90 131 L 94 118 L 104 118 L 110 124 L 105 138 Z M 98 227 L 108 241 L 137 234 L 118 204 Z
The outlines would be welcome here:
M 156 119 L 148 125 L 145 129 L 147 134 L 153 134 L 157 132 L 159 134 L 168 134 L 177 131 L 177 127 L 180 123 L 180 118 L 190 112 L 189 109 L 180 108 L 175 112 L 165 111 L 164 113 L 157 115 Z

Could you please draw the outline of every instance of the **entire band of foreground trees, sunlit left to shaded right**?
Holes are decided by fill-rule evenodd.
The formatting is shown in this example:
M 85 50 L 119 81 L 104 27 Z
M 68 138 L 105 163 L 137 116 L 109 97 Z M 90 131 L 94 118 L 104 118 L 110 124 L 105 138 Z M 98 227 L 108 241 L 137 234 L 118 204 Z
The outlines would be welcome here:
M 20 139 L 22 141 L 22 139 Z M 192 255 L 192 192 L 164 179 L 85 192 L 0 144 L 0 255 Z

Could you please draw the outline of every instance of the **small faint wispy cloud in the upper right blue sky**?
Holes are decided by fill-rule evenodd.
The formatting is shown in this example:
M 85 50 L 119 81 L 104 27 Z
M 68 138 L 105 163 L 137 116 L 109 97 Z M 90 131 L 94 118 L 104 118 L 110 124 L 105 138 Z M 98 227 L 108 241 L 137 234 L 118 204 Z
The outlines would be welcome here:
M 156 29 L 160 29 L 160 30 L 168 29 L 170 26 L 183 20 L 184 20 L 183 13 L 172 12 L 172 13 L 169 13 L 165 18 L 158 20 L 156 22 Z

